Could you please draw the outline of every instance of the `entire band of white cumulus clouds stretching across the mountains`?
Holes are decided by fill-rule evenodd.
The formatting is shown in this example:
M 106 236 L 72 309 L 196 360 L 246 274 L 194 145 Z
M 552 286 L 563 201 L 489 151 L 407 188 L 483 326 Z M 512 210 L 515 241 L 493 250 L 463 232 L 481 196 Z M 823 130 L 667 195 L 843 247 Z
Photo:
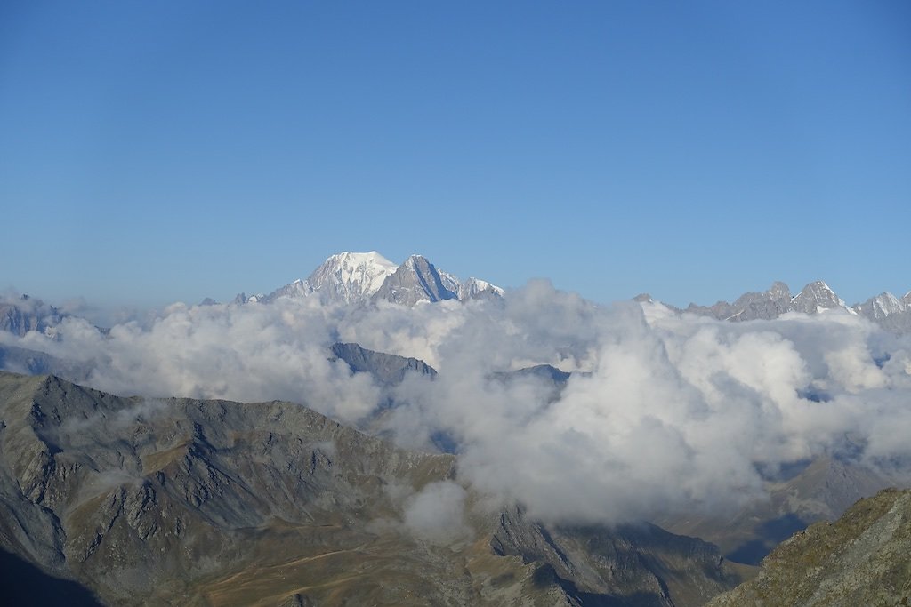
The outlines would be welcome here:
M 733 509 L 761 499 L 780 467 L 822 455 L 911 470 L 911 343 L 837 312 L 728 323 L 660 304 L 598 306 L 533 281 L 502 300 L 415 309 L 175 304 L 107 334 L 70 318 L 56 339 L 11 339 L 83 362 L 99 389 L 292 400 L 347 422 L 385 395 L 330 360 L 329 345 L 424 359 L 439 375 L 398 386 L 384 430 L 408 447 L 445 437 L 460 479 L 488 501 L 554 521 Z M 492 376 L 537 364 L 573 375 L 559 392 L 537 376 Z M 405 525 L 460 520 L 459 491 L 428 486 Z

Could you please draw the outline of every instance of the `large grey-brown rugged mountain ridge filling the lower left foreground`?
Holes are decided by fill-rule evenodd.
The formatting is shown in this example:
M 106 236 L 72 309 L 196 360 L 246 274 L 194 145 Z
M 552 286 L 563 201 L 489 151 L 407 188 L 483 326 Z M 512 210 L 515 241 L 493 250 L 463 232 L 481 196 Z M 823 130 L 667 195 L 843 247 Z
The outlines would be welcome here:
M 0 550 L 33 573 L 14 596 L 39 579 L 106 605 L 696 605 L 737 581 L 703 541 L 564 530 L 457 483 L 453 456 L 301 405 L 0 373 Z M 410 522 L 435 487 L 464 498 L 446 541 Z

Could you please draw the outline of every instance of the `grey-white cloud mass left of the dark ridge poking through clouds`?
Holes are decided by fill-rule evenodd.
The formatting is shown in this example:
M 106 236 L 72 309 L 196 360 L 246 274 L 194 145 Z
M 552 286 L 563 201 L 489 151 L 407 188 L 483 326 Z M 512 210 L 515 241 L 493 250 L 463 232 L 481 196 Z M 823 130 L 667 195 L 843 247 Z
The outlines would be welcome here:
M 56 341 L 32 331 L 16 343 L 87 364 L 89 385 L 118 394 L 292 400 L 353 422 L 374 410 L 380 390 L 369 376 L 328 358 L 336 311 L 288 300 L 174 304 L 147 324 L 131 321 L 107 334 L 67 318 Z

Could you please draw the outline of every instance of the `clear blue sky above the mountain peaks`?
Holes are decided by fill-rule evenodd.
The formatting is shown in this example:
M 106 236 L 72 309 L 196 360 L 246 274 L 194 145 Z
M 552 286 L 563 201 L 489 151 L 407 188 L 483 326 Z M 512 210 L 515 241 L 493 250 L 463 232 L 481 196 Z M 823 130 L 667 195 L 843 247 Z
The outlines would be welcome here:
M 0 287 L 341 250 L 610 301 L 911 288 L 911 3 L 0 4 Z

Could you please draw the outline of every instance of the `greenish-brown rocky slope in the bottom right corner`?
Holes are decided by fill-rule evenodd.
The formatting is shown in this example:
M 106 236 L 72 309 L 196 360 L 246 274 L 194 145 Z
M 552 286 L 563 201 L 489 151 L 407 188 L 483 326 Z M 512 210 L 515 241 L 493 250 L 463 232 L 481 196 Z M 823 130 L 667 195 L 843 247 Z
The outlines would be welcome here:
M 754 580 L 709 605 L 907 605 L 909 554 L 911 491 L 882 491 L 784 541 Z

